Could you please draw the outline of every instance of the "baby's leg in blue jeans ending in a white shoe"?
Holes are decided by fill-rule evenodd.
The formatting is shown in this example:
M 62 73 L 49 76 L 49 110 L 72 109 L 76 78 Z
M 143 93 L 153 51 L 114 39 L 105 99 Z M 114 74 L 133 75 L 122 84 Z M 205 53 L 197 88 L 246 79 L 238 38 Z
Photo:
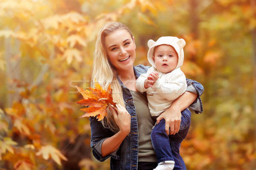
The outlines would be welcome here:
M 165 132 L 165 120 L 162 119 L 151 132 L 151 141 L 157 155 L 158 166 L 155 170 L 172 170 L 174 167 L 173 153 L 169 136 Z

